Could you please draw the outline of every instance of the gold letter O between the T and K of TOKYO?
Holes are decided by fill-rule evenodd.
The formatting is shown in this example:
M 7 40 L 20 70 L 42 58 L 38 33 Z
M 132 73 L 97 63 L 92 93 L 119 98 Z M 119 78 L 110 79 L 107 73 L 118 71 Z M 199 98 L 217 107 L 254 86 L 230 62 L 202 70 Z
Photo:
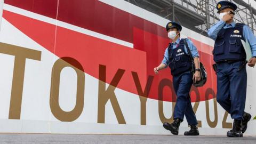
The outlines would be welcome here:
M 59 90 L 60 90 L 60 73 L 65 67 L 71 67 L 77 74 L 77 93 L 76 93 L 76 106 L 71 111 L 63 111 L 59 103 Z M 64 57 L 58 59 L 52 68 L 52 82 L 50 93 L 50 108 L 52 114 L 62 122 L 75 121 L 82 113 L 84 108 L 84 85 L 85 75 L 82 65 L 75 59 Z

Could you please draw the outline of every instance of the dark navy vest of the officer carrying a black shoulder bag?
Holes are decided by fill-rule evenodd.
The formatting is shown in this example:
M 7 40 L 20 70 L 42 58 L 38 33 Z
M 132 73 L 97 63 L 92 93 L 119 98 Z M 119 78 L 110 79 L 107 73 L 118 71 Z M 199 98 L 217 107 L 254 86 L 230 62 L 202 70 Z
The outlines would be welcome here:
M 169 67 L 173 76 L 191 71 L 191 59 L 185 52 L 185 39 L 181 39 L 179 46 L 172 49 L 172 45 L 168 46 L 169 52 Z

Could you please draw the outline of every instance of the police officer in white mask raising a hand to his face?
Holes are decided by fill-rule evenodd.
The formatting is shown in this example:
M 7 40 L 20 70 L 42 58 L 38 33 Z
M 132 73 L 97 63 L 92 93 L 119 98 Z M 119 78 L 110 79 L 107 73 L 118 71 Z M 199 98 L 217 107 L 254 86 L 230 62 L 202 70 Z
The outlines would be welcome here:
M 217 63 L 217 101 L 234 119 L 228 137 L 243 137 L 251 115 L 244 112 L 246 98 L 246 53 L 241 39 L 251 45 L 252 56 L 248 65 L 256 62 L 256 39 L 244 23 L 233 21 L 234 3 L 221 1 L 217 4 L 220 21 L 208 30 L 214 39 L 213 59 Z

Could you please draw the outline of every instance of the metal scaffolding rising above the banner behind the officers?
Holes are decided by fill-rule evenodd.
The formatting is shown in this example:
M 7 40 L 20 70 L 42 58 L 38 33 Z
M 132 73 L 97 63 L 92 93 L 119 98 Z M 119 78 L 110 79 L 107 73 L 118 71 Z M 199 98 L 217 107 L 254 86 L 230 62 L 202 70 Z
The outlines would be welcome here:
M 207 36 L 207 30 L 219 21 L 217 0 L 124 0 L 142 9 L 153 12 L 171 21 L 178 21 L 182 26 Z M 256 10 L 250 1 L 229 0 L 237 4 L 234 20 L 245 23 L 256 32 Z

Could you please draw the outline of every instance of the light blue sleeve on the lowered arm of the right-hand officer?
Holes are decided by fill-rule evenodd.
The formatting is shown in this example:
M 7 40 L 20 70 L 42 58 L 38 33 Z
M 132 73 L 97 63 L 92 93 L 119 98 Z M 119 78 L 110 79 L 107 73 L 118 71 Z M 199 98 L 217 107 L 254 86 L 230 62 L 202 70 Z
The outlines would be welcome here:
M 251 50 L 252 50 L 252 57 L 256 57 L 256 38 L 252 33 L 252 30 L 248 26 L 244 26 L 244 37 L 247 39 L 247 41 L 250 43 Z

